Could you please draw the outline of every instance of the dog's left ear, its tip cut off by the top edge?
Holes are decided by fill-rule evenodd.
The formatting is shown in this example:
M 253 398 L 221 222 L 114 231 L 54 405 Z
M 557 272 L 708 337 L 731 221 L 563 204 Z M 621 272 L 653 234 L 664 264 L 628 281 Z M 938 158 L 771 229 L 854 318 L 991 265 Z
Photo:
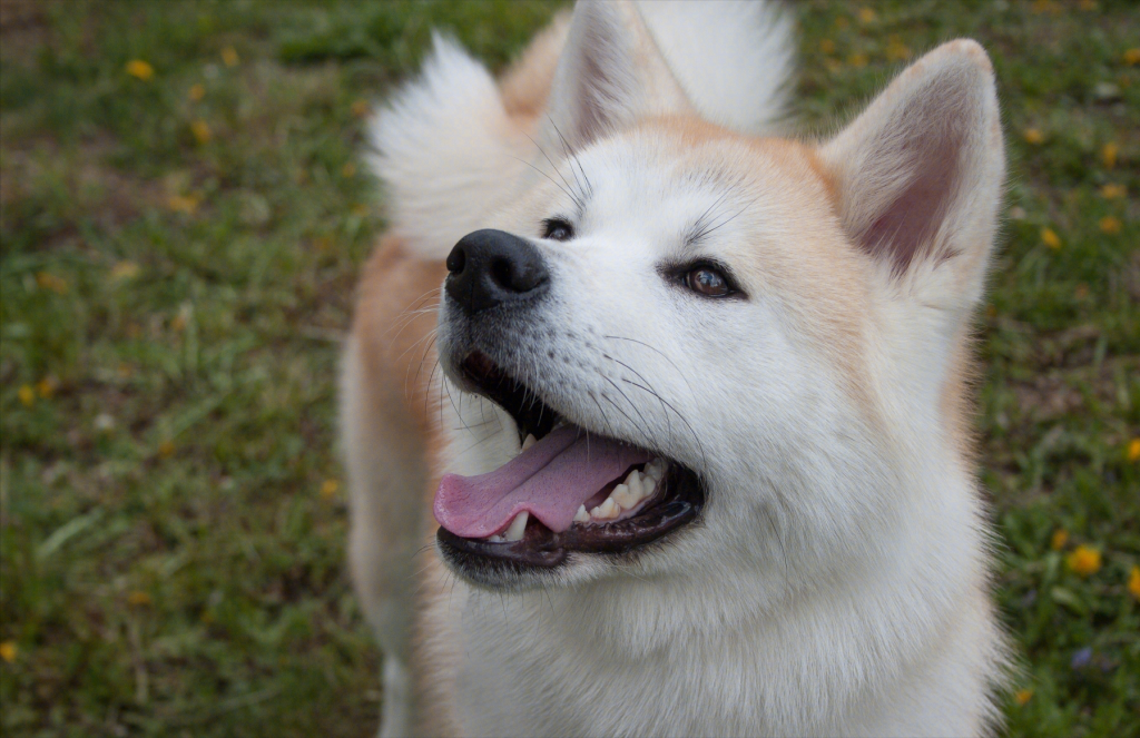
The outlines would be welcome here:
M 548 131 L 571 147 L 642 117 L 692 111 L 629 0 L 579 0 L 551 89 Z

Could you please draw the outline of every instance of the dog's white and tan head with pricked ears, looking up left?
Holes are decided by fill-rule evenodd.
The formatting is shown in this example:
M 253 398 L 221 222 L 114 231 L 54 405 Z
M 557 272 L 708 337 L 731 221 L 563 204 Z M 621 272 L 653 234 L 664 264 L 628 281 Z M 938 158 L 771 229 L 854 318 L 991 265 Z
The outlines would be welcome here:
M 804 144 L 702 120 L 633 6 L 580 3 L 538 143 L 542 176 L 447 262 L 457 451 L 487 472 L 437 495 L 458 574 L 820 582 L 968 485 L 1003 177 L 977 43 Z

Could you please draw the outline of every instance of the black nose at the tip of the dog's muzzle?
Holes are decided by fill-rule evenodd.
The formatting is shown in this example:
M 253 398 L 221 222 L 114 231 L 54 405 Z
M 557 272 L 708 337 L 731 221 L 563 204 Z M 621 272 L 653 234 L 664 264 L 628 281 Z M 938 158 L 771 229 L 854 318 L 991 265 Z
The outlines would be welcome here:
M 549 274 L 535 246 L 503 230 L 477 230 L 447 257 L 448 295 L 467 315 L 542 294 Z

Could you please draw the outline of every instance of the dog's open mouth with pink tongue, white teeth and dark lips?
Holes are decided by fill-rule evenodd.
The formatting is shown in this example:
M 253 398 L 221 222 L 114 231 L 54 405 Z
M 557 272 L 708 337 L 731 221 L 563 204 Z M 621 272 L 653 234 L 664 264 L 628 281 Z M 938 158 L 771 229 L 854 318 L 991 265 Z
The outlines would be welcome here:
M 522 452 L 479 477 L 447 475 L 435 494 L 445 558 L 477 581 L 553 568 L 573 552 L 627 554 L 694 520 L 697 473 L 629 441 L 567 423 L 486 355 L 459 366 L 465 383 L 519 427 Z

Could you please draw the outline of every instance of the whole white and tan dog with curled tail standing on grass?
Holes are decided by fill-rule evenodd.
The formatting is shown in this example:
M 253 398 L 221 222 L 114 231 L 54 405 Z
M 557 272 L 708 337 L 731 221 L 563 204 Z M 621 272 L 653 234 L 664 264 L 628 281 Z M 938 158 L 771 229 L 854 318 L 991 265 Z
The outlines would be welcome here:
M 437 38 L 374 119 L 340 397 L 381 735 L 1000 727 L 993 67 L 947 42 L 803 140 L 793 44 L 581 0 L 498 80 Z

